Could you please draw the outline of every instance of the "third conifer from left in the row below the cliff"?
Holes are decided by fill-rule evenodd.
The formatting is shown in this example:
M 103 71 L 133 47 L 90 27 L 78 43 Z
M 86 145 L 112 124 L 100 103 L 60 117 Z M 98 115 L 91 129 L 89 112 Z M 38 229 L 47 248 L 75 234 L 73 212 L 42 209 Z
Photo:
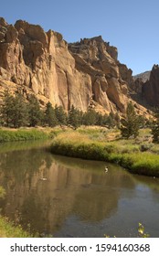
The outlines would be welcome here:
M 28 98 L 28 121 L 29 125 L 35 127 L 42 122 L 42 112 L 37 98 L 32 94 Z

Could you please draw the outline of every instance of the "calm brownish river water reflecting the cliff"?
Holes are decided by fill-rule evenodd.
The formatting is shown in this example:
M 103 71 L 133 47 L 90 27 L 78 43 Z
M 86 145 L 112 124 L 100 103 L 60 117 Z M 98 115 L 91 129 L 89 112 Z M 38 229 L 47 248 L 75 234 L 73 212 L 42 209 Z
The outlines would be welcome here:
M 136 237 L 139 222 L 159 237 L 159 179 L 51 155 L 41 145 L 0 145 L 2 215 L 42 237 Z

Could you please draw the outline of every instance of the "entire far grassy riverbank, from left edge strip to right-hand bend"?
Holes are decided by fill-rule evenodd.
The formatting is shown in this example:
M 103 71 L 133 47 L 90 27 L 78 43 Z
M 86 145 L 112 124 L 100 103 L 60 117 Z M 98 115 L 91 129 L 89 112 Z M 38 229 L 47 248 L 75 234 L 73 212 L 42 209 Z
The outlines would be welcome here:
M 159 144 L 152 143 L 149 129 L 135 139 L 123 140 L 118 130 L 102 127 L 0 128 L 0 143 L 53 139 L 50 151 L 89 160 L 122 165 L 131 173 L 159 177 Z

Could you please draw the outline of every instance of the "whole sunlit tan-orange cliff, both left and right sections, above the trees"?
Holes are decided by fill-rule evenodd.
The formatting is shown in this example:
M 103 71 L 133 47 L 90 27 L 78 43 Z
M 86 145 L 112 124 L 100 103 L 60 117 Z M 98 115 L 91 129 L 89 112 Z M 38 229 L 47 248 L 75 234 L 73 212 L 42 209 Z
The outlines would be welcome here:
M 22 20 L 12 26 L 0 18 L 0 97 L 5 89 L 20 89 L 35 93 L 43 105 L 123 113 L 132 100 L 132 70 L 117 56 L 117 48 L 101 37 L 68 45 L 58 32 Z

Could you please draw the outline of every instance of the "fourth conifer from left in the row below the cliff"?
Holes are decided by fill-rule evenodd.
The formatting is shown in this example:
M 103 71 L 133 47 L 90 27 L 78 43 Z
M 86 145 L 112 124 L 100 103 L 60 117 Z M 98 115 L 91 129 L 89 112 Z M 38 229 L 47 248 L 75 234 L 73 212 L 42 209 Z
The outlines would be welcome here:
M 45 123 L 47 123 L 50 127 L 54 127 L 58 124 L 55 109 L 52 107 L 52 104 L 50 102 L 48 102 L 46 105 Z

